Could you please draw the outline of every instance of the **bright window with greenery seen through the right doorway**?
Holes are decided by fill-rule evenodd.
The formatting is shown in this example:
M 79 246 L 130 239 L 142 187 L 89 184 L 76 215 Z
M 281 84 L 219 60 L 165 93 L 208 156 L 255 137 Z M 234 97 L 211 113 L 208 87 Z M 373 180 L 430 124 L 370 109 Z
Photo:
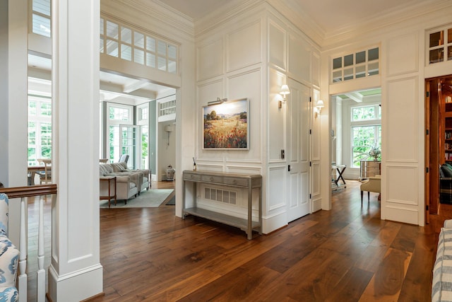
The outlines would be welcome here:
M 350 135 L 352 168 L 359 168 L 360 161 L 368 159 L 369 151 L 381 150 L 381 107 L 379 104 L 350 108 Z

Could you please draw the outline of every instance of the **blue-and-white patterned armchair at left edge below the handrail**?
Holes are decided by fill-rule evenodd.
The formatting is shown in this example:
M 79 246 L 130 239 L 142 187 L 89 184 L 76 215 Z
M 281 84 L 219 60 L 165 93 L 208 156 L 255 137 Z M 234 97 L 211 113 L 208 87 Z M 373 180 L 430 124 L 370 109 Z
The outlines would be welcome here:
M 0 193 L 0 301 L 18 301 L 19 250 L 8 238 L 8 197 Z

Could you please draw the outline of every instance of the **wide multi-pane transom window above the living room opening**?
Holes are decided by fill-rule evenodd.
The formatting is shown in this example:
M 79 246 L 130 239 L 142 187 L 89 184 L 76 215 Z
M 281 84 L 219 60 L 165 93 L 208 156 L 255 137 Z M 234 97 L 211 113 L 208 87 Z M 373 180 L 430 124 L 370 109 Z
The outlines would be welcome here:
M 177 74 L 179 47 L 119 21 L 100 18 L 100 53 Z

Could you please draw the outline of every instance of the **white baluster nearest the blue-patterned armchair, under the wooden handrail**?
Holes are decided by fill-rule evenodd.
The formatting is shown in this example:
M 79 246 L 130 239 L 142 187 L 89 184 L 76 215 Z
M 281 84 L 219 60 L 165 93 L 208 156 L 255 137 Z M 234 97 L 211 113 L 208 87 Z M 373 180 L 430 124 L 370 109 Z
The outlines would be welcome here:
M 28 238 L 27 238 L 27 203 L 25 197 L 20 198 L 20 256 L 19 256 L 19 301 L 27 302 L 27 250 L 28 250 Z

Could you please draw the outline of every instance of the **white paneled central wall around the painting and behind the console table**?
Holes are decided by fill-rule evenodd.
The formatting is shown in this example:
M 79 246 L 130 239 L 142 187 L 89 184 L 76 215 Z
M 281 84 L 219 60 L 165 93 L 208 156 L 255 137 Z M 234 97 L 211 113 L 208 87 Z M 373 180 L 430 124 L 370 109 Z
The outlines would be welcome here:
M 266 4 L 236 16 L 233 21 L 219 23 L 198 37 L 196 45 L 198 169 L 262 174 L 263 233 L 285 226 L 289 207 L 285 194 L 290 192 L 282 188 L 290 186 L 287 186 L 287 158 L 281 156 L 281 151 L 290 147 L 290 138 L 286 137 L 287 106 L 278 108 L 278 101 L 282 100 L 279 91 L 289 78 L 311 91 L 314 76 L 319 86 L 319 52 L 314 52 L 309 40 Z M 249 99 L 249 150 L 202 148 L 201 108 L 217 98 Z M 318 139 L 316 143 L 319 144 Z M 295 147 L 310 154 L 311 146 Z M 319 160 L 319 147 L 316 152 Z M 319 164 L 315 166 L 319 173 Z M 311 173 L 305 178 L 305 187 L 309 187 Z M 318 174 L 316 179 L 319 178 Z M 319 186 L 317 181 L 318 199 Z M 203 207 L 229 214 L 237 211 L 229 204 L 215 205 L 198 195 Z

